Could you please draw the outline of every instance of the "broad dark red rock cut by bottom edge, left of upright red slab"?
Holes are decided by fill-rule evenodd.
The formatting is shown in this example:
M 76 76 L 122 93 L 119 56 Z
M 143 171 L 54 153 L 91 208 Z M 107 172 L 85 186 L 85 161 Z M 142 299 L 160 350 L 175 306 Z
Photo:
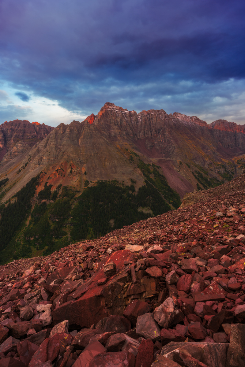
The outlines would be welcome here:
M 89 367 L 134 367 L 135 357 L 130 352 L 104 352 L 90 361 Z

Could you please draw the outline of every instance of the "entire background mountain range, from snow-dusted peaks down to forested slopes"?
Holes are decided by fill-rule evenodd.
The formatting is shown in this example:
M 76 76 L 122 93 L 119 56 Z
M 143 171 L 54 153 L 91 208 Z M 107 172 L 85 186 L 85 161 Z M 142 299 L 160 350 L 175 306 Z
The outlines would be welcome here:
M 0 125 L 0 261 L 177 209 L 245 169 L 245 126 L 106 103 L 82 123 Z

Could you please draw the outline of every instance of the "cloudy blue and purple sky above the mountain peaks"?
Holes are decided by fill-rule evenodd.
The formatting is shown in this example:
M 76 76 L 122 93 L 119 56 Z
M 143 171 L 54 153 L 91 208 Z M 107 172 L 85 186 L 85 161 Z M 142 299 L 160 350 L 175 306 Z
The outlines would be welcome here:
M 0 0 L 0 124 L 112 102 L 245 124 L 245 2 Z

